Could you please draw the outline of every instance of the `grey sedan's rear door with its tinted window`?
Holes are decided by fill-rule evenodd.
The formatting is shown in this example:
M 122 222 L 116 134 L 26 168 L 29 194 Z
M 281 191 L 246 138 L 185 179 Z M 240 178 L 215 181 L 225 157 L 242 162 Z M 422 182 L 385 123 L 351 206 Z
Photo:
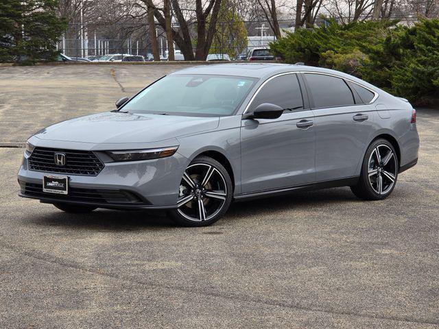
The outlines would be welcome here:
M 341 77 L 303 73 L 316 121 L 316 181 L 359 175 L 370 136 L 375 131 L 375 108 Z

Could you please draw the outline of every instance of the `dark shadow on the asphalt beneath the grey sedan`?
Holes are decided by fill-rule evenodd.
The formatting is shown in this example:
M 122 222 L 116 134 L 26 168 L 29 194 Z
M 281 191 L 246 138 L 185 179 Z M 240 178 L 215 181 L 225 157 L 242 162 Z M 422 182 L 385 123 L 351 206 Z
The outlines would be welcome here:
M 329 204 L 361 202 L 349 188 L 331 188 L 321 191 L 296 192 L 278 197 L 235 202 L 224 219 L 219 223 L 228 225 L 241 217 L 272 215 L 285 210 L 303 210 L 310 207 L 324 207 Z M 141 231 L 157 229 L 180 229 L 164 211 L 151 210 L 104 210 L 98 209 L 87 214 L 69 214 L 53 208 L 49 212 L 27 217 L 25 221 L 38 226 L 62 226 L 65 228 L 104 231 Z M 191 228 L 189 228 L 191 229 Z

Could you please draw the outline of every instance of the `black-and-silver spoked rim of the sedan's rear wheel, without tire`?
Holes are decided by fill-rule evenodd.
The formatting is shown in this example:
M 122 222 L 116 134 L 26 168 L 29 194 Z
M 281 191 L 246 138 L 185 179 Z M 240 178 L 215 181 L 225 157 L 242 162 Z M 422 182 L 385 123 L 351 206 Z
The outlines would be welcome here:
M 388 145 L 378 145 L 368 162 L 369 183 L 378 194 L 386 194 L 396 181 L 396 158 Z

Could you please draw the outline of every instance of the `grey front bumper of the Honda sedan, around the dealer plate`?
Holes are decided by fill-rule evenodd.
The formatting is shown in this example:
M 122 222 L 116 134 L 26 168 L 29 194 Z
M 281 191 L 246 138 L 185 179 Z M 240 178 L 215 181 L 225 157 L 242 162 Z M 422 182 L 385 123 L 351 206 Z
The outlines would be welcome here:
M 23 156 L 18 173 L 19 196 L 110 209 L 176 208 L 178 186 L 188 161 L 176 153 L 155 160 L 105 162 L 96 176 L 67 174 L 69 195 L 55 195 L 43 192 L 43 176 L 60 174 L 29 170 L 28 158 Z

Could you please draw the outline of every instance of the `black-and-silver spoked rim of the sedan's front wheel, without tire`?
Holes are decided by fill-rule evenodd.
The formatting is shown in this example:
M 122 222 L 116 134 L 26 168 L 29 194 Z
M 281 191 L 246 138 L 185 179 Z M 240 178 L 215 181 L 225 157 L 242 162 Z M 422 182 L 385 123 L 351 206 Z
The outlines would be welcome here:
M 209 220 L 222 209 L 226 195 L 226 181 L 215 167 L 192 164 L 180 182 L 178 212 L 191 221 Z

